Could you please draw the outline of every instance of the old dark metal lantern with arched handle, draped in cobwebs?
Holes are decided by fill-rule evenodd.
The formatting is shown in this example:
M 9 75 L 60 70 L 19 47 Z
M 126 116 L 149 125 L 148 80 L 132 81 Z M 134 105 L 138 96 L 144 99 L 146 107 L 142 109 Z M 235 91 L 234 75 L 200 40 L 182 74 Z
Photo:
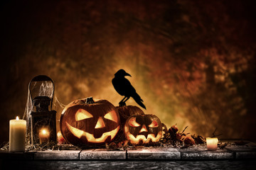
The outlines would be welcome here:
M 51 84 L 50 93 L 48 86 L 43 86 L 43 82 Z M 35 96 L 31 91 L 31 84 L 39 84 L 39 93 Z M 48 88 L 48 89 L 47 89 Z M 32 101 L 32 111 L 29 115 L 31 125 L 31 145 L 42 144 L 45 142 L 56 141 L 56 111 L 52 111 L 54 83 L 50 77 L 39 75 L 34 77 L 29 85 L 28 90 Z

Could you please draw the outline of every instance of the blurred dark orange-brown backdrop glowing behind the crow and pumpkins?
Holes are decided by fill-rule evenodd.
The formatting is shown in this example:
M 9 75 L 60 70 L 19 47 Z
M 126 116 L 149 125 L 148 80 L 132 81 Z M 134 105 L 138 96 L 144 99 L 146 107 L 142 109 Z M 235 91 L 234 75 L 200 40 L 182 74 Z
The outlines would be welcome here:
M 167 127 L 255 140 L 255 11 L 244 0 L 1 1 L 0 142 L 36 75 L 65 105 L 93 96 L 117 106 L 121 68 Z

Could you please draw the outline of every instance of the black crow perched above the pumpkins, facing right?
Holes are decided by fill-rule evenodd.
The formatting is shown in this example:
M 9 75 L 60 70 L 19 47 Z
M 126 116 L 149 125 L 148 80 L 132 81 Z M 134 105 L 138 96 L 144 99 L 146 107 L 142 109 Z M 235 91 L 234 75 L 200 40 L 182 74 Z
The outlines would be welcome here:
M 129 82 L 128 79 L 125 79 L 125 76 L 132 77 L 130 74 L 124 71 L 124 69 L 119 69 L 114 74 L 114 79 L 112 79 L 112 84 L 114 86 L 114 89 L 117 91 L 118 94 L 121 96 L 124 96 L 122 101 L 119 102 L 119 106 L 125 106 L 125 102 L 130 98 L 134 98 L 134 101 L 136 101 L 139 106 L 142 106 L 142 108 L 146 107 L 142 103 L 142 98 L 139 96 L 139 94 L 136 93 L 136 90 L 132 86 L 132 84 Z

